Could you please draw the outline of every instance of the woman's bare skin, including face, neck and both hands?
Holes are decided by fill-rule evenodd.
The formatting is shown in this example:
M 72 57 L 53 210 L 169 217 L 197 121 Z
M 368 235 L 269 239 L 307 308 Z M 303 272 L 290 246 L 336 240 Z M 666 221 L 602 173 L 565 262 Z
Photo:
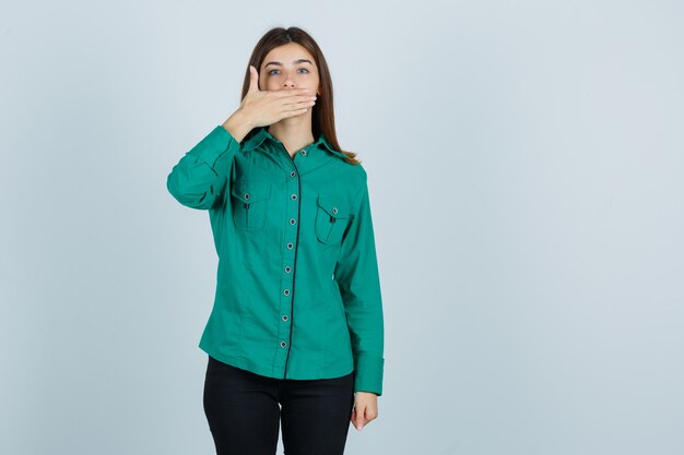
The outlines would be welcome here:
M 249 91 L 223 127 L 241 142 L 253 128 L 269 125 L 269 133 L 294 156 L 315 141 L 311 108 L 320 94 L 320 80 L 314 56 L 302 45 L 288 43 L 272 49 L 259 71 L 252 65 L 249 71 Z M 356 430 L 378 417 L 377 398 L 372 392 L 354 393 L 351 422 Z

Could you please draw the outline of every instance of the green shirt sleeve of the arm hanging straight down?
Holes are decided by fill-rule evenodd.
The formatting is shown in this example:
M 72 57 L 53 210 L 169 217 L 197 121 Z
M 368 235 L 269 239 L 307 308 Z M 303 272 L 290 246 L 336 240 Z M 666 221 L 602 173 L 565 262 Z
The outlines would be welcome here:
M 354 392 L 382 394 L 384 322 L 368 187 L 364 181 L 358 208 L 342 239 L 335 265 L 354 355 Z

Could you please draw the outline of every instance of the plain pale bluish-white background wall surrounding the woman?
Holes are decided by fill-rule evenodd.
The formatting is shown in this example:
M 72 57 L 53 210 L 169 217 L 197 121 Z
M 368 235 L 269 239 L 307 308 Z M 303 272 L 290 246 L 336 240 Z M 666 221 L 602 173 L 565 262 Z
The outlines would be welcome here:
M 326 55 L 374 211 L 384 395 L 346 453 L 684 453 L 681 2 L 0 17 L 1 453 L 215 453 L 197 346 L 215 250 L 166 177 L 291 25 Z

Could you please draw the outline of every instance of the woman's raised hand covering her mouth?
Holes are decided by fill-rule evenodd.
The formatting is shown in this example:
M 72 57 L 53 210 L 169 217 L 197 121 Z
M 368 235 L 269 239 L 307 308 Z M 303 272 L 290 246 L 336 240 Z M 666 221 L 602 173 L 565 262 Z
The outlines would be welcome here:
M 249 73 L 249 89 L 238 110 L 243 111 L 252 128 L 267 127 L 284 118 L 305 113 L 316 104 L 316 91 L 311 88 L 260 91 L 259 72 L 251 64 Z

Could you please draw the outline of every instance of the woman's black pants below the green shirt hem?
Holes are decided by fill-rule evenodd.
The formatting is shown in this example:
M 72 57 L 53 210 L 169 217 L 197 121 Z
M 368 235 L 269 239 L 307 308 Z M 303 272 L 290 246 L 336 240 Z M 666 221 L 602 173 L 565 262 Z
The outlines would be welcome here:
M 354 406 L 354 373 L 283 380 L 209 356 L 203 404 L 217 455 L 275 455 L 281 418 L 285 455 L 342 455 Z

